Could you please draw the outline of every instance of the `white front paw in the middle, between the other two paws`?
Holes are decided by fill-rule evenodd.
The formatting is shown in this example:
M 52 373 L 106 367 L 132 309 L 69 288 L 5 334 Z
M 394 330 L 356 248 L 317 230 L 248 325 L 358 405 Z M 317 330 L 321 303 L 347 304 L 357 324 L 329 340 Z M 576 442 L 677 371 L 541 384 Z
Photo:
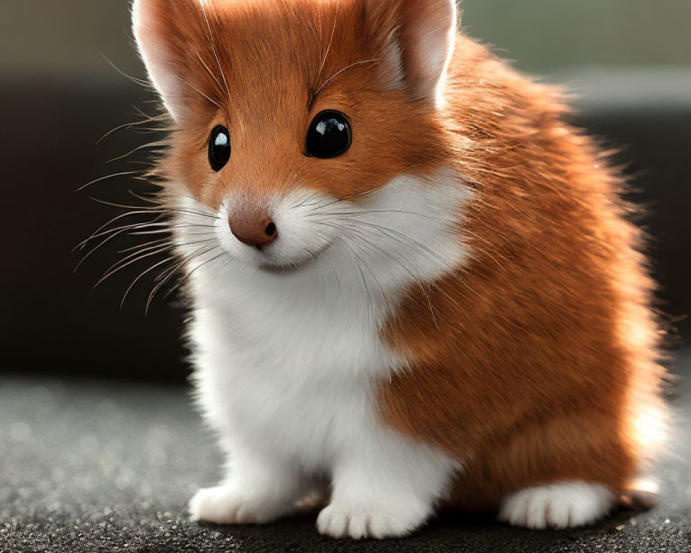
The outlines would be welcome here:
M 425 518 L 425 514 L 406 516 L 375 505 L 332 503 L 321 509 L 316 527 L 332 538 L 397 538 L 413 532 Z

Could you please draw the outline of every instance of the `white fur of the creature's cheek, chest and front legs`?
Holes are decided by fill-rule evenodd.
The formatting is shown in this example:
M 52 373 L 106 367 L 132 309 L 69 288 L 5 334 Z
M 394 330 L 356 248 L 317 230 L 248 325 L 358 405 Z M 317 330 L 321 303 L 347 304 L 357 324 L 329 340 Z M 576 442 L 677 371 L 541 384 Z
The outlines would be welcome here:
M 462 262 L 457 223 L 467 195 L 447 173 L 399 177 L 354 203 L 309 192 L 283 198 L 278 228 L 318 253 L 280 272 L 259 268 L 257 252 L 233 242 L 221 210 L 218 242 L 229 256 L 191 274 L 189 335 L 198 404 L 229 453 L 229 476 L 200 491 L 193 516 L 270 520 L 307 491 L 300 482 L 311 474 L 332 482 L 319 522 L 327 533 L 348 524 L 354 503 L 368 505 L 357 524 L 384 534 L 429 516 L 457 462 L 379 420 L 377 384 L 406 366 L 380 330 L 411 283 Z

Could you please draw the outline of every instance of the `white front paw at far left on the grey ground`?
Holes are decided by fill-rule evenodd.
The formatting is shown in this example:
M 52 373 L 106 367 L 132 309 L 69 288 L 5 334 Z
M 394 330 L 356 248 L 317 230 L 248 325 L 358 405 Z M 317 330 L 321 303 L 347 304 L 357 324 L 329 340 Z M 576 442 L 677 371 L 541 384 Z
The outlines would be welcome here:
M 289 510 L 286 503 L 238 494 L 225 486 L 200 489 L 189 502 L 193 521 L 216 524 L 267 523 Z

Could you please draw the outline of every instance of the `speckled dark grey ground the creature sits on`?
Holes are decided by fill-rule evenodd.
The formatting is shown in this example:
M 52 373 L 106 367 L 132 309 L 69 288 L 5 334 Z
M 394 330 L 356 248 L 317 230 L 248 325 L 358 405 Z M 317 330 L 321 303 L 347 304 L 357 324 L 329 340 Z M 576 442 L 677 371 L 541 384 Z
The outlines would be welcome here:
M 691 380 L 691 350 L 679 364 Z M 332 541 L 314 515 L 265 527 L 189 523 L 218 450 L 184 388 L 0 378 L 0 552 L 691 552 L 691 386 L 679 386 L 661 505 L 597 527 L 531 532 L 446 516 L 403 541 Z

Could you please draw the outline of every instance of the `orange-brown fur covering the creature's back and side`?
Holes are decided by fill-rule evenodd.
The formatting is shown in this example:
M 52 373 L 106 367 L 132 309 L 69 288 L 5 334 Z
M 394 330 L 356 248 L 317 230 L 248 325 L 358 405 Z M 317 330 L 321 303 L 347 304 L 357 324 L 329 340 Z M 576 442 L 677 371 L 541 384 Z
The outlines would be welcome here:
M 410 290 L 390 321 L 386 338 L 416 361 L 382 384 L 381 414 L 463 460 L 456 505 L 494 508 L 557 480 L 623 491 L 663 413 L 653 283 L 623 180 L 547 86 L 463 37 L 450 73 L 473 256 Z

